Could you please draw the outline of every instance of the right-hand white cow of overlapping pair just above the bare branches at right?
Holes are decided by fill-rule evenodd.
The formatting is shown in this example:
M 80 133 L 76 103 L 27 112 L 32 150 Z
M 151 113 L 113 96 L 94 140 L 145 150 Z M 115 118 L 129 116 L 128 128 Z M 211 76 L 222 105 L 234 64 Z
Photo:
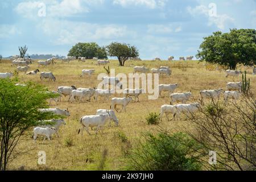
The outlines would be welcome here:
M 197 102 L 193 104 L 176 104 L 175 107 L 176 107 L 176 114 L 174 115 L 174 117 L 180 118 L 181 113 L 184 113 L 184 114 L 195 113 L 197 110 L 199 110 L 200 104 Z

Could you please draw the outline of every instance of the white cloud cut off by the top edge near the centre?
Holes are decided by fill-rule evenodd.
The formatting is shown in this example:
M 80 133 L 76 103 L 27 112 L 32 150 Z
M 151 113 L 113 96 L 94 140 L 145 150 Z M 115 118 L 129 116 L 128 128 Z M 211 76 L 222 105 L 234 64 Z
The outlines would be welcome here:
M 155 9 L 156 7 L 163 7 L 166 5 L 167 0 L 114 0 L 114 5 L 126 6 L 146 6 L 149 9 Z

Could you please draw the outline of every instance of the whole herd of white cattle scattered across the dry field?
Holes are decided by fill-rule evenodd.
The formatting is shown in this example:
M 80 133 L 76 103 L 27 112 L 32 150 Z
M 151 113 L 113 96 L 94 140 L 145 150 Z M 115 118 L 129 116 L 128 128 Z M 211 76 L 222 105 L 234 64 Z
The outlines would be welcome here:
M 76 57 L 68 56 L 65 59 L 62 59 L 62 62 L 67 62 L 71 60 L 75 60 Z M 168 60 L 172 61 L 174 56 L 169 56 Z M 192 60 L 193 56 L 187 56 L 186 60 Z M 78 57 L 79 61 L 86 61 L 86 57 Z M 97 57 L 93 57 L 93 60 L 97 60 L 97 65 L 106 65 L 109 60 L 99 60 Z M 155 57 L 154 60 L 160 60 L 159 57 Z M 179 60 L 185 60 L 185 57 L 179 57 Z M 11 65 L 17 65 L 16 72 L 24 72 L 26 75 L 36 75 L 39 72 L 39 69 L 35 69 L 34 71 L 28 72 L 30 69 L 30 64 L 32 64 L 31 59 L 20 59 L 15 57 L 13 61 L 11 61 Z M 53 59 L 48 59 L 46 61 L 40 60 L 37 61 L 38 67 L 43 66 L 46 67 L 48 65 L 53 65 L 55 61 Z M 135 66 L 133 67 L 134 73 L 159 73 L 160 75 L 171 76 L 171 68 L 166 66 L 161 66 L 159 68 L 147 68 L 145 66 Z M 82 69 L 82 73 L 80 77 L 92 76 L 95 72 L 95 69 Z M 233 71 L 233 70 L 226 70 L 226 77 L 228 76 L 239 76 L 241 71 Z M 0 78 L 10 78 L 13 77 L 14 74 L 12 72 L 0 73 Z M 43 78 L 48 78 L 49 80 L 56 81 L 56 77 L 53 75 L 52 72 L 41 72 L 40 73 L 40 80 Z M 122 89 L 122 82 L 117 77 L 102 77 L 102 82 L 104 86 L 114 85 L 118 86 L 119 89 Z M 16 86 L 27 86 L 24 84 L 16 84 Z M 241 86 L 242 82 L 228 82 L 226 84 L 226 88 L 228 91 L 224 91 L 223 89 L 213 89 L 213 90 L 200 90 L 200 102 L 203 104 L 205 100 L 219 100 L 221 94 L 224 95 L 224 101 L 227 102 L 229 99 L 233 101 L 237 101 L 241 97 Z M 163 118 L 163 115 L 166 114 L 167 120 L 170 121 L 168 118 L 168 114 L 172 114 L 173 119 L 180 118 L 180 115 L 183 114 L 191 114 L 195 113 L 197 110 L 200 109 L 200 104 L 190 103 L 187 104 L 189 100 L 191 100 L 192 93 L 191 92 L 184 92 L 175 93 L 175 89 L 178 88 L 178 84 L 159 84 L 159 96 L 162 97 L 162 92 L 168 92 L 168 96 L 170 96 L 170 105 L 162 105 L 160 107 L 160 118 Z M 98 88 L 76 88 L 76 86 L 58 86 L 57 91 L 51 91 L 52 93 L 56 94 L 56 98 L 50 98 L 49 105 L 51 105 L 52 101 L 58 102 L 61 101 L 61 97 L 68 96 L 68 101 L 74 103 L 78 100 L 78 102 L 84 102 L 86 98 L 87 102 L 91 101 L 93 97 L 95 101 L 98 101 L 98 97 L 103 97 L 103 101 L 109 101 L 109 98 L 113 96 L 114 90 L 110 89 L 98 89 Z M 120 113 L 121 111 L 126 111 L 127 105 L 131 101 L 139 102 L 139 95 L 146 93 L 144 89 L 123 89 L 123 97 L 113 97 L 110 101 L 110 109 L 98 109 L 94 115 L 84 115 L 82 116 L 79 121 L 81 124 L 81 128 L 79 129 L 79 133 L 85 129 L 88 134 L 89 127 L 97 127 L 96 134 L 99 129 L 104 127 L 105 123 L 109 121 L 113 121 L 116 126 L 119 125 L 119 120 L 115 115 L 115 111 Z M 180 102 L 180 103 L 176 103 Z M 174 105 L 175 104 L 175 105 Z M 122 106 L 121 110 L 117 110 L 117 106 Z M 115 110 L 115 111 L 114 111 Z M 53 115 L 62 115 L 64 117 L 69 117 L 71 114 L 69 113 L 68 109 L 59 109 L 59 108 L 47 108 L 47 109 L 39 109 L 40 112 L 49 112 Z M 48 121 L 41 121 L 42 125 L 37 126 L 34 128 L 34 141 L 38 136 L 43 136 L 43 141 L 47 138 L 51 140 L 53 134 L 56 134 L 59 137 L 59 129 L 61 125 L 66 125 L 64 119 L 51 119 Z M 51 124 L 44 124 L 44 123 L 51 123 Z

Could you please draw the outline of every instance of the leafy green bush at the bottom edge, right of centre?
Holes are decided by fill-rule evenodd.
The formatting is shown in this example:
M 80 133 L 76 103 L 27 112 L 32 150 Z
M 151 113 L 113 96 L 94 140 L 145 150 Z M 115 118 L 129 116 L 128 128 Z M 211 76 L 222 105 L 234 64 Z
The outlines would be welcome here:
M 129 170 L 200 170 L 201 163 L 193 152 L 199 149 L 195 140 L 187 135 L 176 133 L 169 135 L 159 133 L 144 135 L 145 142 L 140 142 L 131 153 L 128 162 Z

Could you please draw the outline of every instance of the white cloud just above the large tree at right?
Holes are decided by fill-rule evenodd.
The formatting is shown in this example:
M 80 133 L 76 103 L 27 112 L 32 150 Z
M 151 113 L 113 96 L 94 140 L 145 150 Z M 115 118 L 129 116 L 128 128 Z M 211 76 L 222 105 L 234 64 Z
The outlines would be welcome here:
M 234 22 L 234 19 L 226 14 L 218 14 L 216 15 L 209 15 L 209 9 L 207 6 L 200 5 L 196 6 L 195 8 L 187 7 L 188 12 L 193 15 L 205 15 L 208 18 L 208 25 L 212 26 L 212 24 L 215 24 L 218 28 L 221 30 L 224 30 L 226 28 L 226 24 L 230 22 Z

